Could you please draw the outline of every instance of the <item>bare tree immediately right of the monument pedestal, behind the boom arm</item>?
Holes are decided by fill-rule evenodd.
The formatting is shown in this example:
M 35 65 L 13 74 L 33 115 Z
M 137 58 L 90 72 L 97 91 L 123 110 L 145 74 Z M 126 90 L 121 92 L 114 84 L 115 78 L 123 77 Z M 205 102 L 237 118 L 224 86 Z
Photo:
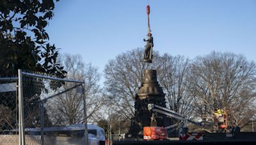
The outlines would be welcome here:
M 166 94 L 166 105 L 181 114 L 191 113 L 191 99 L 186 90 L 189 75 L 189 59 L 183 56 L 172 57 L 165 53 L 161 57 L 161 67 L 157 72 L 160 85 Z

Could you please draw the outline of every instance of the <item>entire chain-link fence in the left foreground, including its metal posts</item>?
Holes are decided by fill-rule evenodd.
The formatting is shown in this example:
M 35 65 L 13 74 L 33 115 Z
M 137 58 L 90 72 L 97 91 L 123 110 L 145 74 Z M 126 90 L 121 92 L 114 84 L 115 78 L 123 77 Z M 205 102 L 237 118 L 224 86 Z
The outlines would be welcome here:
M 17 78 L 0 78 L 0 144 L 86 144 L 83 86 L 20 70 Z

